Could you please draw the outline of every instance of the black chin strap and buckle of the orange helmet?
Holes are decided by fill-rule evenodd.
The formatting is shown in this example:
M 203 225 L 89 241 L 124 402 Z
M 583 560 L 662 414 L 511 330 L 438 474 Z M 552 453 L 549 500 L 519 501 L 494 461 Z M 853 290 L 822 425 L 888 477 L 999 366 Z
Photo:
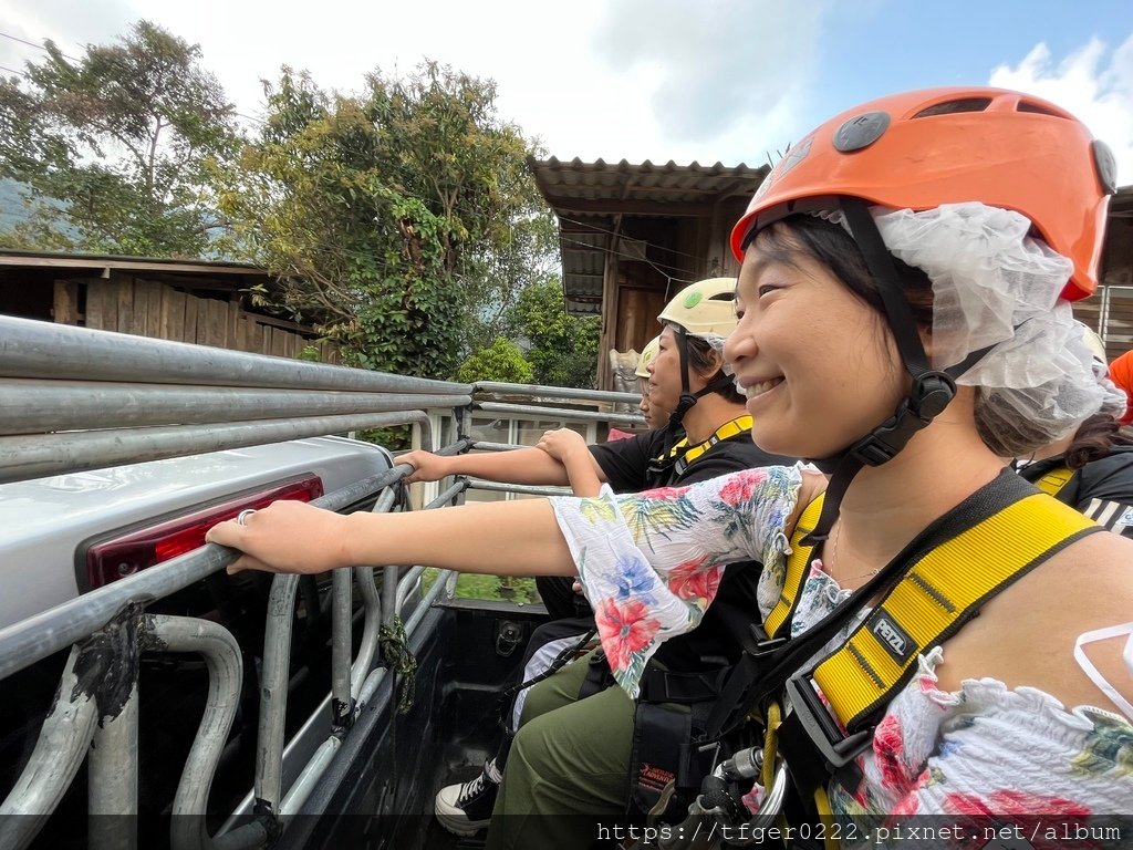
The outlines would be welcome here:
M 987 349 L 983 349 L 946 371 L 934 369 L 925 354 L 912 309 L 901 291 L 893 256 L 881 240 L 881 233 L 869 213 L 868 205 L 860 198 L 843 197 L 840 209 L 845 214 L 850 232 L 877 282 L 889 330 L 896 340 L 905 371 L 912 377 L 912 385 L 909 396 L 897 405 L 893 416 L 837 454 L 812 461 L 819 469 L 830 475 L 830 483 L 815 530 L 803 541 L 806 545 L 815 545 L 829 535 L 830 527 L 837 519 L 842 498 L 861 468 L 880 466 L 904 449 L 913 434 L 932 422 L 955 397 L 954 375 L 963 374 L 987 354 Z

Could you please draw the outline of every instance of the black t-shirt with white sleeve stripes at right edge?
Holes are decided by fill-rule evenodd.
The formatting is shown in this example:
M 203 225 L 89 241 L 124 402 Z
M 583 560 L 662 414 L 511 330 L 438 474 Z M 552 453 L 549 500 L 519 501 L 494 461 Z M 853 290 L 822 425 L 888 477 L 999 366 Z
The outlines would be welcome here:
M 1033 484 L 1062 466 L 1060 456 L 1047 458 L 1019 474 Z M 1133 445 L 1115 445 L 1107 457 L 1087 464 L 1056 498 L 1114 534 L 1133 537 Z

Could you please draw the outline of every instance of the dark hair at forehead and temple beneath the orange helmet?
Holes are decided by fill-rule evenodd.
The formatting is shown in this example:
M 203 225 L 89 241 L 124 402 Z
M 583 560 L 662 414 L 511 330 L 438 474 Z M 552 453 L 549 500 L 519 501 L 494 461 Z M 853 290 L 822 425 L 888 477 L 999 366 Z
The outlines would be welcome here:
M 794 265 L 799 254 L 811 257 L 881 315 L 885 308 L 877 281 L 866 265 L 858 243 L 845 228 L 816 215 L 790 215 L 755 237 L 759 254 L 772 262 Z M 920 269 L 893 257 L 897 280 L 921 330 L 932 329 L 932 281 Z

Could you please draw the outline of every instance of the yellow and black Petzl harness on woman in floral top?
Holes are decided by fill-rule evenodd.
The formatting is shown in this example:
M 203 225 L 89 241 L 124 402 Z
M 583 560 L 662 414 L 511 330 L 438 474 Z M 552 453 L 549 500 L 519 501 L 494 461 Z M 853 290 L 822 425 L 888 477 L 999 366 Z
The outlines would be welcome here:
M 1000 589 L 1070 543 L 1100 530 L 1068 505 L 1007 475 L 1014 481 L 1000 476 L 985 488 L 989 498 L 969 511 L 970 517 L 934 524 L 883 570 L 887 580 L 878 576 L 880 585 L 871 580 L 862 588 L 863 604 L 879 602 L 836 651 L 786 680 L 791 712 L 782 713 L 775 700 L 756 709 L 764 721 L 765 765 L 770 760 L 766 754 L 782 753 L 795 788 L 810 789 L 823 821 L 832 817 L 826 782 L 832 774 L 851 787 L 858 781 L 853 759 L 869 746 L 893 694 L 915 672 L 918 656 L 955 634 Z M 1062 484 L 1066 481 L 1068 476 Z M 823 501 L 819 495 L 807 505 L 791 536 L 783 590 L 764 621 L 763 646 L 791 643 L 782 635 L 798 606 L 815 549 L 802 541 L 818 521 Z M 773 669 L 774 662 L 765 668 Z M 758 675 L 755 679 L 758 682 Z

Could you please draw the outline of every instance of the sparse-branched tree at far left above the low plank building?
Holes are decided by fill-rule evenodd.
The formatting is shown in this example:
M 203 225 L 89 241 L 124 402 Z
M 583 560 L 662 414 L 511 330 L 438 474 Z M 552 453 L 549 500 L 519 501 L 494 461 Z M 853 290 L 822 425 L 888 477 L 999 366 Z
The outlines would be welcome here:
M 16 239 L 46 248 L 203 256 L 219 223 L 211 173 L 236 154 L 231 104 L 201 49 L 140 20 L 79 60 L 48 41 L 0 80 L 0 176 L 58 204 Z

